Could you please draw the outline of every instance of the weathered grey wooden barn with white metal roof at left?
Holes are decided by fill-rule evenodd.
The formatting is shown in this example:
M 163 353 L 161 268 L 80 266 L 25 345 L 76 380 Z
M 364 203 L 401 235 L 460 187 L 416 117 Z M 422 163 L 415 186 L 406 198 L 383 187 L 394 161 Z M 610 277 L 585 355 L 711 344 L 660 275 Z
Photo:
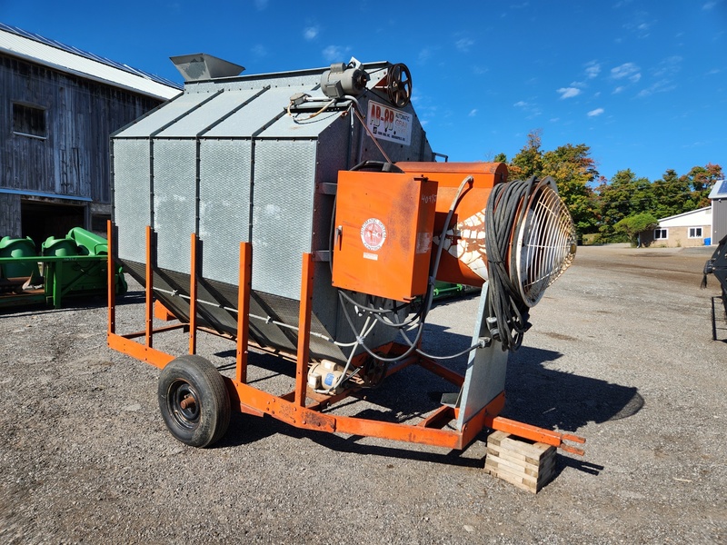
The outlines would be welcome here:
M 0 24 L 0 238 L 105 232 L 109 135 L 181 86 Z

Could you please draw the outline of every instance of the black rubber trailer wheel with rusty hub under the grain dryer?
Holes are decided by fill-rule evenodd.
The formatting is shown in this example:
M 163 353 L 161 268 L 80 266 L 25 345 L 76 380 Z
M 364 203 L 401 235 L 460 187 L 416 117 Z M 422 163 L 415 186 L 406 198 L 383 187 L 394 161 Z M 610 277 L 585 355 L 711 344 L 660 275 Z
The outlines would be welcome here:
M 206 447 L 230 424 L 230 397 L 222 375 L 199 356 L 181 356 L 164 366 L 157 389 L 164 423 L 179 441 Z

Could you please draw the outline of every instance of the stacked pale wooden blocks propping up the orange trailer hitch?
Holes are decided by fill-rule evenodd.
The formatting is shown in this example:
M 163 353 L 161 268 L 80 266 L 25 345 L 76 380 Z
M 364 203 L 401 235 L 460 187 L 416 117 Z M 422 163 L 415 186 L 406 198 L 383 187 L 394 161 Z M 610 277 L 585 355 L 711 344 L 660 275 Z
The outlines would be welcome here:
M 555 447 L 493 431 L 487 438 L 484 471 L 536 494 L 555 472 Z

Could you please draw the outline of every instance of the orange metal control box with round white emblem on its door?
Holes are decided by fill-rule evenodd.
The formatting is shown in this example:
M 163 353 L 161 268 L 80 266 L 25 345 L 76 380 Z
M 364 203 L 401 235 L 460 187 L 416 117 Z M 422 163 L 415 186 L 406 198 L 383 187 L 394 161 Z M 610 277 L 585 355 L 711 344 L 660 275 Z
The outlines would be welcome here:
M 426 292 L 437 183 L 407 173 L 338 173 L 334 286 L 408 302 Z

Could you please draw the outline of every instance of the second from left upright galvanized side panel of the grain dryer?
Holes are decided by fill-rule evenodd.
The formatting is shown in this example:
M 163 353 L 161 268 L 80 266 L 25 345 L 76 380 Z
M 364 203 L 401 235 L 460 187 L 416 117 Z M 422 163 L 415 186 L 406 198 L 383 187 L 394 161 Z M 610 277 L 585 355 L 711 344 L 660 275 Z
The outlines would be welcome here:
M 157 264 L 190 272 L 190 236 L 196 233 L 196 142 L 154 139 L 154 231 Z

